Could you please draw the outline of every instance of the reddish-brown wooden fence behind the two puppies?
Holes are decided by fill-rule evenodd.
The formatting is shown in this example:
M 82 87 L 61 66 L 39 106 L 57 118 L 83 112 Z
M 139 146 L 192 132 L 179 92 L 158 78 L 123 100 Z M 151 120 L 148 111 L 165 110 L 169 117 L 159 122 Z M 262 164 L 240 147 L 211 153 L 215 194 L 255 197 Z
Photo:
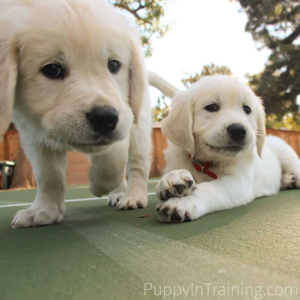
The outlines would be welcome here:
M 271 134 L 285 140 L 300 157 L 300 132 L 274 130 L 267 128 L 267 134 Z M 150 177 L 161 176 L 164 167 L 164 149 L 167 148 L 167 139 L 161 134 L 160 126 L 152 129 L 152 165 Z M 0 161 L 16 161 L 18 155 L 19 135 L 15 129 L 7 131 L 4 142 L 0 143 Z M 90 167 L 88 158 L 82 153 L 68 152 L 69 168 L 67 170 L 68 184 L 88 184 L 88 169 Z

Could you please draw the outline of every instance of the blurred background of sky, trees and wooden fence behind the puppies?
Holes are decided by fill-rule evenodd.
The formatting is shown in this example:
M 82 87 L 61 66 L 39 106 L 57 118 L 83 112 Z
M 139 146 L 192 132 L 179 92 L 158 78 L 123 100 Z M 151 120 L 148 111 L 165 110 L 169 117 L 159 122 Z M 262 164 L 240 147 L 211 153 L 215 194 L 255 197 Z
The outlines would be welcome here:
M 300 154 L 298 0 L 108 1 L 137 22 L 149 70 L 180 89 L 218 73 L 250 85 L 264 101 L 268 133 L 280 136 Z M 167 116 L 170 100 L 155 88 L 150 92 L 151 176 L 156 177 L 164 168 L 163 149 L 167 147 L 159 122 Z M 15 167 L 2 163 L 0 188 L 6 171 L 10 188 L 35 187 L 13 125 L 0 144 L 0 161 L 16 163 Z M 87 183 L 87 158 L 70 152 L 69 161 L 68 184 Z

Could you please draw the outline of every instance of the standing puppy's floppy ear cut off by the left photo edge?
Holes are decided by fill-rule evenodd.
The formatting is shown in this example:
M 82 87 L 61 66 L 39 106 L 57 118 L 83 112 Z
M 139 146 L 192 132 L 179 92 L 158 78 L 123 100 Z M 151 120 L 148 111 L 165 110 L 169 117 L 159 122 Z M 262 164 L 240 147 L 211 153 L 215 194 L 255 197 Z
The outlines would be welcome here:
M 15 44 L 0 47 L 0 141 L 11 122 L 18 75 Z

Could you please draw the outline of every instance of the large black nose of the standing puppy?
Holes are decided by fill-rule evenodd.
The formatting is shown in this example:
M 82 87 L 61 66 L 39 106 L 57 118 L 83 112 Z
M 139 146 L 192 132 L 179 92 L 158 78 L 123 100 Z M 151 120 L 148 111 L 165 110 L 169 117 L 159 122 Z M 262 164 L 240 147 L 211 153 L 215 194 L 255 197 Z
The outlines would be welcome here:
M 95 131 L 103 134 L 113 131 L 119 122 L 118 112 L 111 107 L 93 107 L 86 118 Z

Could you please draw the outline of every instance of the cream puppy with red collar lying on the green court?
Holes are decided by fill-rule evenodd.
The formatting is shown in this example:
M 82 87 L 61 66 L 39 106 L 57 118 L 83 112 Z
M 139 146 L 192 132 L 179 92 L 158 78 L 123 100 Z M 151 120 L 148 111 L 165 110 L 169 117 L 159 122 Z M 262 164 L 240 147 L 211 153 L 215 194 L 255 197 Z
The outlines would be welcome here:
M 155 73 L 149 82 L 173 97 L 162 121 L 169 148 L 156 186 L 161 221 L 195 220 L 300 188 L 297 154 L 277 137 L 265 139 L 262 103 L 247 85 L 223 75 L 203 77 L 187 91 Z

